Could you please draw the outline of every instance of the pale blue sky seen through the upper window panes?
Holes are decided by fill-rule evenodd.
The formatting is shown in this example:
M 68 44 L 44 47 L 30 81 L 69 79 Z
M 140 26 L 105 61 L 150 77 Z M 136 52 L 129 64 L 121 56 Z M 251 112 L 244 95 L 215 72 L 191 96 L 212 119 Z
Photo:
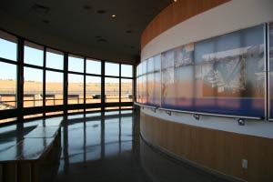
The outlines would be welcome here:
M 29 46 L 24 47 L 24 61 L 27 64 L 35 66 L 43 66 L 42 50 Z M 0 38 L 0 57 L 16 61 L 17 45 L 14 42 L 6 41 Z M 64 67 L 64 56 L 56 53 L 46 52 L 46 67 L 62 70 Z M 68 70 L 76 72 L 84 72 L 84 59 L 76 56 L 68 56 Z M 106 76 L 118 76 L 119 66 L 114 63 L 106 62 Z M 86 59 L 86 73 L 101 74 L 101 64 L 99 61 Z M 46 71 L 46 81 L 56 82 L 63 79 L 63 74 Z M 122 76 L 132 76 L 132 66 L 121 66 Z M 86 81 L 100 82 L 100 77 L 87 76 Z M 0 62 L 0 79 L 16 79 L 16 66 Z M 83 82 L 81 76 L 68 76 L 71 82 Z M 25 67 L 25 81 L 42 81 L 43 71 L 35 68 Z M 98 82 L 99 80 L 99 82 Z M 111 80 L 111 79 L 109 79 Z

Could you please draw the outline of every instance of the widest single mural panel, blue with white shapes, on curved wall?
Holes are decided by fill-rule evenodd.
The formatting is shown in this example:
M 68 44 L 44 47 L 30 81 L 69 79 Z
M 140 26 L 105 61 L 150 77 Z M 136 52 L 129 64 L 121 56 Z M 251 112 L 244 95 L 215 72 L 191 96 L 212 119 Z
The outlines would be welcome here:
M 198 42 L 195 110 L 264 116 L 264 57 L 264 25 Z

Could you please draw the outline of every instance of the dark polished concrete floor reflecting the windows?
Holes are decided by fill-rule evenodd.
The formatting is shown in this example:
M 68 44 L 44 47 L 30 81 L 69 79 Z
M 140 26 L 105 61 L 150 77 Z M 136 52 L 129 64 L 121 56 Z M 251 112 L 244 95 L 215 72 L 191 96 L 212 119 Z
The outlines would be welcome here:
M 225 181 L 149 147 L 139 136 L 137 111 L 112 111 L 37 120 L 25 123 L 24 132 L 21 133 L 25 136 L 35 126 L 54 126 L 62 120 L 61 148 L 55 148 L 59 149 L 59 156 L 54 164 L 45 163 L 40 167 L 40 181 Z M 0 135 L 1 129 L 5 131 L 10 127 L 15 126 L 0 127 Z M 7 144 L 13 142 L 12 136 L 9 141 Z M 4 145 L 2 149 L 6 147 L 8 146 Z

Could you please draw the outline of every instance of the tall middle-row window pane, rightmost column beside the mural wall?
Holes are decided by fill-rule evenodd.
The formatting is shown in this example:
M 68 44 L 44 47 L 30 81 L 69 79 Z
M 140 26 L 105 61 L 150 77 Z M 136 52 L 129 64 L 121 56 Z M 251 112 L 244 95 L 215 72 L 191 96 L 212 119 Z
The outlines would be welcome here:
M 121 102 L 133 101 L 132 79 L 121 79 Z

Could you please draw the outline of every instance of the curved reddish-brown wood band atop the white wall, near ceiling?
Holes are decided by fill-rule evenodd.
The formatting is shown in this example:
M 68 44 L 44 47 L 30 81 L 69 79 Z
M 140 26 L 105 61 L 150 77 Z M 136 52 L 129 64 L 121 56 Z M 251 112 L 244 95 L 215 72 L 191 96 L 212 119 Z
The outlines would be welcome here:
M 177 0 L 147 25 L 141 36 L 141 49 L 168 28 L 228 1 L 230 0 Z

